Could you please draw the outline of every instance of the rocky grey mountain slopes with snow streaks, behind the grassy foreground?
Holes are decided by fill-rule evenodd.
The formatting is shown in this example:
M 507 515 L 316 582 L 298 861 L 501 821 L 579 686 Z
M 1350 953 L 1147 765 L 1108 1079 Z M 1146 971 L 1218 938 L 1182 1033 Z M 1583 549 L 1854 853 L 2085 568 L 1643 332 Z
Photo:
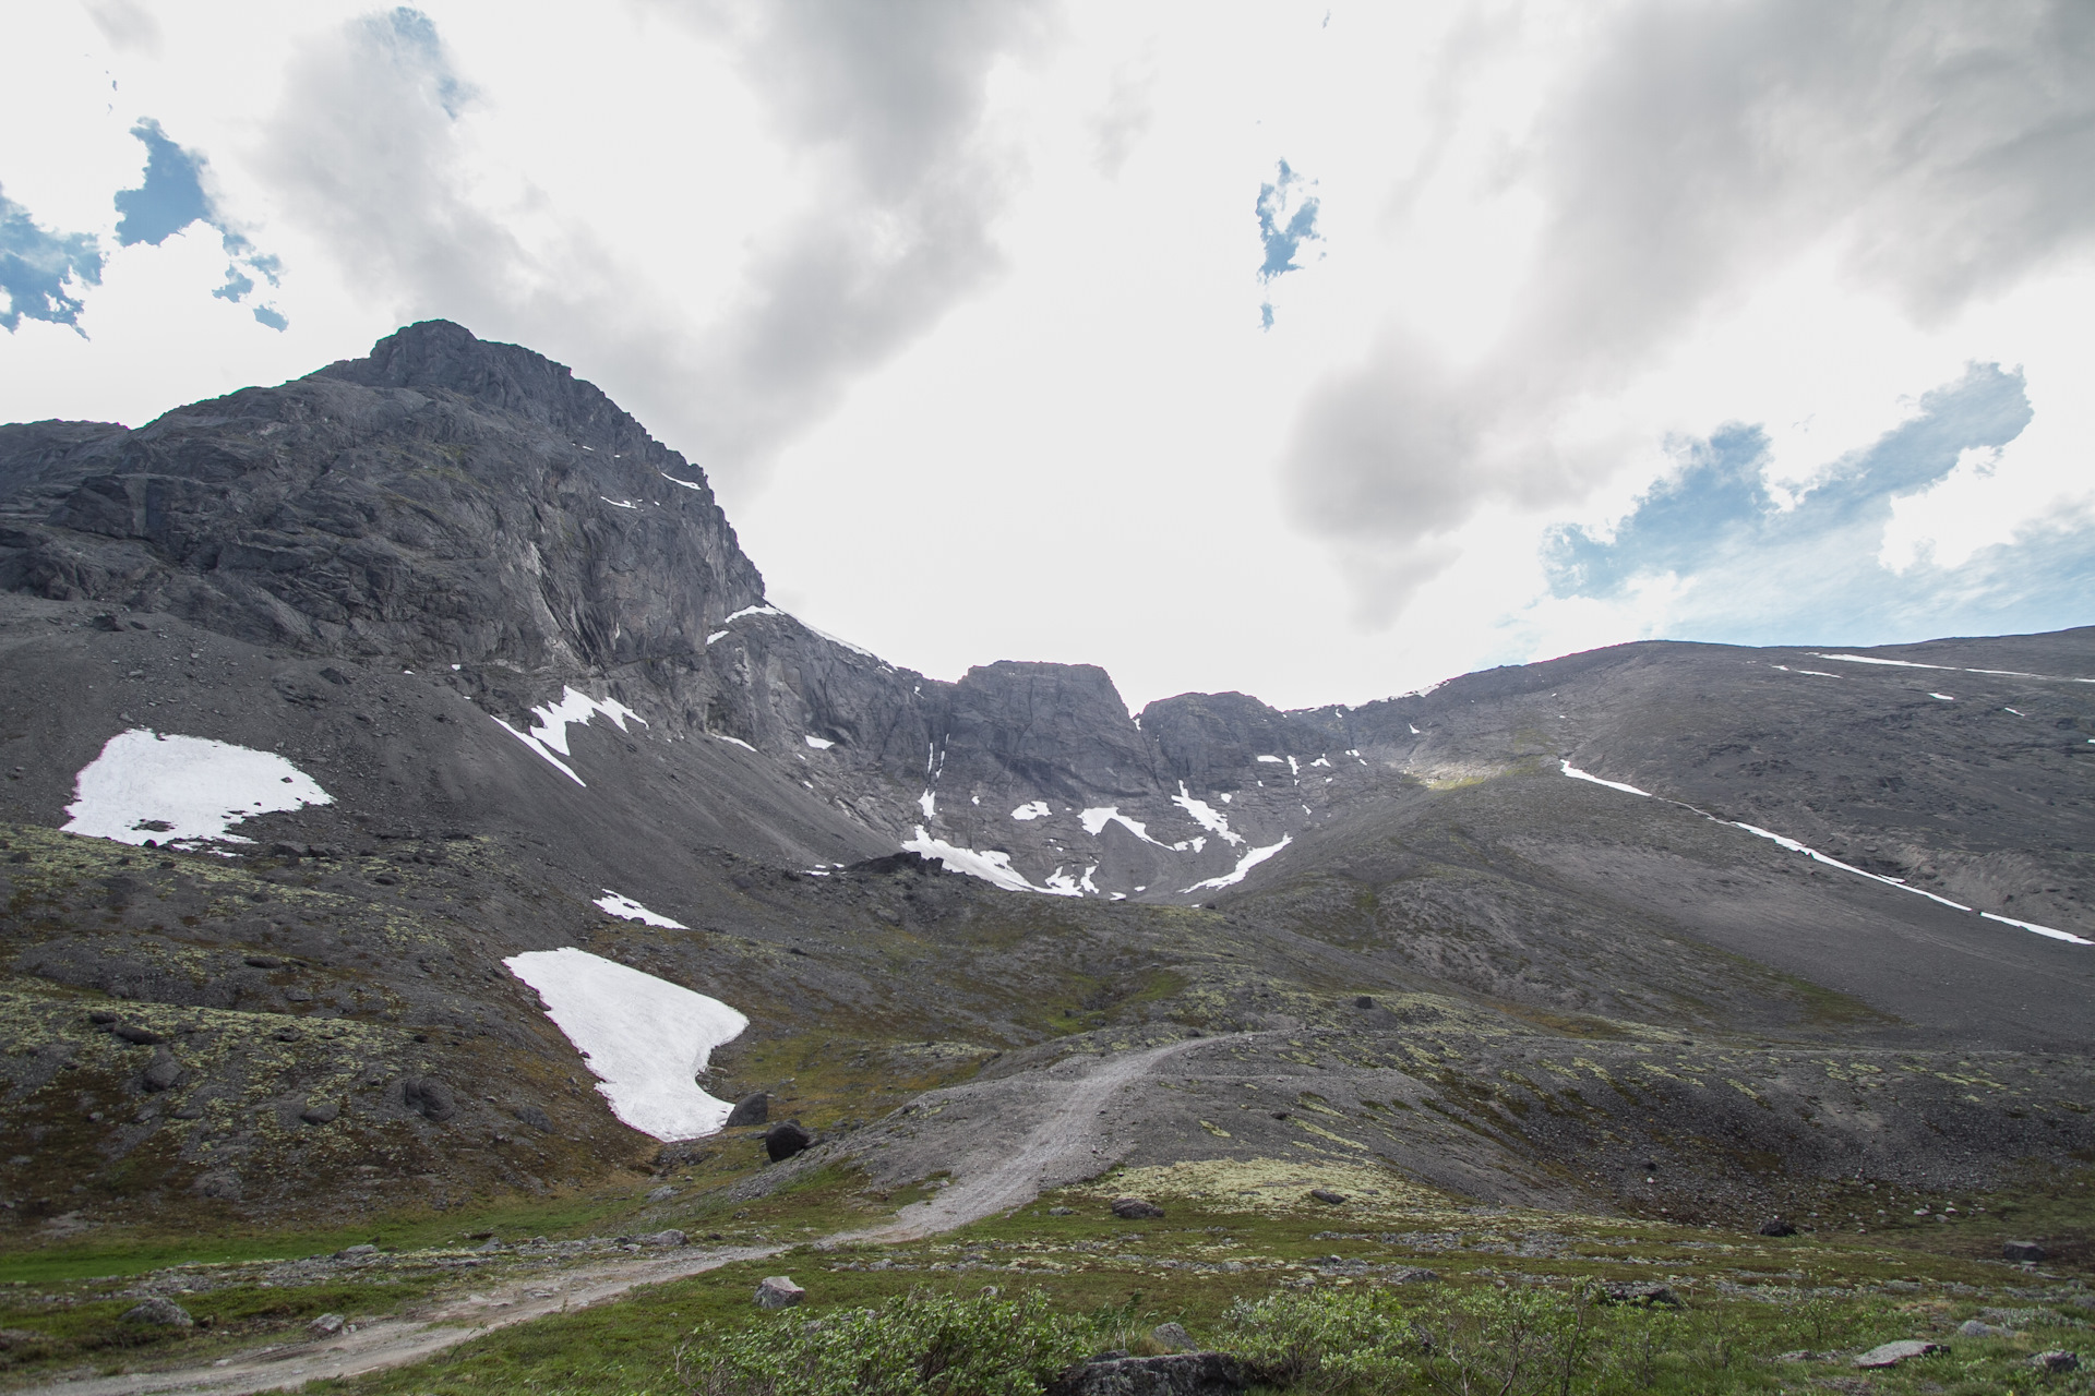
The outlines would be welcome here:
M 1337 1130 L 1469 1195 L 1745 1214 L 2095 1145 L 2095 628 L 1305 712 L 945 682 L 769 607 L 601 391 L 425 322 L 136 431 L 0 427 L 0 653 L 17 1224 L 652 1159 L 505 967 L 561 946 L 750 1017 L 710 1080 L 830 1136 L 786 1172 L 953 1168 L 1037 1072 L 1194 1032 L 1320 1105 L 1188 1080 L 1119 1157 Z M 96 825 L 111 745 L 174 739 L 293 793 Z

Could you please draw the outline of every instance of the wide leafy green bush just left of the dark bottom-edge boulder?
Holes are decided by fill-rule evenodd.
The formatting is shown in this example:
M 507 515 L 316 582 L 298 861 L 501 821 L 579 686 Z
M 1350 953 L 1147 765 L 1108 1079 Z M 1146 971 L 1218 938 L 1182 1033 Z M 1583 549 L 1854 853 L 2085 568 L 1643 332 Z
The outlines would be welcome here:
M 784 1310 L 679 1367 L 704 1396 L 1039 1396 L 1091 1339 L 1091 1323 L 1050 1314 L 1039 1293 L 909 1293 L 817 1321 Z

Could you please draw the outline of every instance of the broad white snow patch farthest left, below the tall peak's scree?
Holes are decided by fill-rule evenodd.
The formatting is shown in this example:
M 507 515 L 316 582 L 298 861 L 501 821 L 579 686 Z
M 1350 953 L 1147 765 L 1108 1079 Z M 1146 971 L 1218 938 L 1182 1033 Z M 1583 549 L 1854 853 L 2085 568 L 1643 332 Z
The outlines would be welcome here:
M 274 751 L 134 726 L 103 743 L 103 753 L 73 776 L 65 833 L 119 843 L 253 843 L 226 831 L 308 804 L 335 797 Z

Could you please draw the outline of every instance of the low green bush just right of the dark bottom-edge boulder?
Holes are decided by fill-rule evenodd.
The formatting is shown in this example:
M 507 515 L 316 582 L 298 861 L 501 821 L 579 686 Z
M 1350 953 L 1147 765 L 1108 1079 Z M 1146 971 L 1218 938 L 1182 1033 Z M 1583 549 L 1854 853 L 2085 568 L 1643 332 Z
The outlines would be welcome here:
M 1238 1300 L 1221 1323 L 1219 1346 L 1288 1392 L 1368 1396 L 1412 1373 L 1412 1325 L 1387 1289 L 1278 1291 Z

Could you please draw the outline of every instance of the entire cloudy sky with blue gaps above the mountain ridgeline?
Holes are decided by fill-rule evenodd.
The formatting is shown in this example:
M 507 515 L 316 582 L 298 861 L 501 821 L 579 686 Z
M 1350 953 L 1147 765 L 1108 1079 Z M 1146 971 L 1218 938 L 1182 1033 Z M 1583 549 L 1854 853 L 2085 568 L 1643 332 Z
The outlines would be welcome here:
M 939 678 L 2095 622 L 2095 6 L 17 6 L 0 421 L 450 318 Z M 34 61 L 29 61 L 34 59 Z

